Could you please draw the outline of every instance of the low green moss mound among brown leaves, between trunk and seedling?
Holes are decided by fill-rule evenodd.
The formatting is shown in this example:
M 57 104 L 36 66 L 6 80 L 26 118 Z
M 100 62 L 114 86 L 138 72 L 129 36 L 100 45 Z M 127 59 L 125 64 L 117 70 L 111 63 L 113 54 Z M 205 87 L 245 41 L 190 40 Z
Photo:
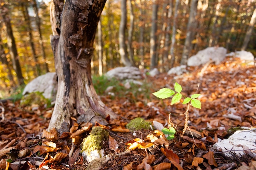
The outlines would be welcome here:
M 146 121 L 145 119 L 142 119 L 140 117 L 137 117 L 135 119 L 132 119 L 130 123 L 126 125 L 126 128 L 128 128 L 130 131 L 136 131 L 141 129 L 151 129 L 153 130 L 152 123 L 149 121 Z

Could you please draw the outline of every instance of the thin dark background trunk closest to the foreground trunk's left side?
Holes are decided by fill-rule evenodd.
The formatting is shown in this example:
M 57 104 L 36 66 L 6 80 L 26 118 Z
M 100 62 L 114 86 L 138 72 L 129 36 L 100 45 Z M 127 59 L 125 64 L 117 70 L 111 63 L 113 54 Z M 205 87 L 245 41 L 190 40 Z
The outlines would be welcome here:
M 39 15 L 38 15 L 38 8 L 37 8 L 37 5 L 36 5 L 36 0 L 32 0 L 32 6 L 33 6 L 34 12 L 36 14 L 36 26 L 37 26 L 38 33 L 39 33 L 39 44 L 40 44 L 40 47 L 41 47 L 41 55 L 43 56 L 43 59 L 44 59 L 45 71 L 49 72 L 49 67 L 48 67 L 48 64 L 46 62 L 45 47 L 44 47 L 43 38 L 42 38 L 41 21 L 40 21 Z

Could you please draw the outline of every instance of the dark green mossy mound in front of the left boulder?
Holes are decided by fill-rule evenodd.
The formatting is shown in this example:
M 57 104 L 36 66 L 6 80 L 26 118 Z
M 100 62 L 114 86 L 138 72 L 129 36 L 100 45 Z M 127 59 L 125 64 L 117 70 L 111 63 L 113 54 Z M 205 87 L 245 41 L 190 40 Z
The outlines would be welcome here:
M 32 104 L 38 104 L 39 106 L 43 106 L 45 104 L 48 105 L 49 100 L 43 96 L 42 92 L 37 91 L 37 92 L 32 92 L 32 93 L 29 93 L 28 95 L 23 96 L 20 101 L 21 106 L 29 106 Z

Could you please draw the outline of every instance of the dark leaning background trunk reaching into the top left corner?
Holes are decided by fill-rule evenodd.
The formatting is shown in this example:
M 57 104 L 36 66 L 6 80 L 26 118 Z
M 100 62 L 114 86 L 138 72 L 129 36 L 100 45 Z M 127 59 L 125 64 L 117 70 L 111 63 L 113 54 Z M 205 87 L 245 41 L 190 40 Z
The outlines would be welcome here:
M 7 32 L 7 46 L 9 48 L 9 53 L 11 55 L 11 62 L 13 65 L 13 69 L 17 75 L 18 84 L 24 84 L 24 78 L 22 76 L 21 68 L 20 68 L 20 61 L 19 56 L 16 48 L 15 39 L 13 36 L 13 31 L 11 28 L 11 19 L 9 17 L 9 9 L 6 7 L 6 4 L 3 0 L 0 0 L 0 13 L 2 15 L 2 21 L 6 26 Z

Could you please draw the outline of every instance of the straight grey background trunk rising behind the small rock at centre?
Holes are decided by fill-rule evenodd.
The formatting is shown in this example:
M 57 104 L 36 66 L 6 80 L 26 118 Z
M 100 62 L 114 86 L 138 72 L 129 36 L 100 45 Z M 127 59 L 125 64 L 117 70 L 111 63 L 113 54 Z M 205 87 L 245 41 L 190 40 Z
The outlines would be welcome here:
M 152 25 L 150 30 L 150 69 L 157 66 L 157 0 L 153 2 L 152 8 Z

